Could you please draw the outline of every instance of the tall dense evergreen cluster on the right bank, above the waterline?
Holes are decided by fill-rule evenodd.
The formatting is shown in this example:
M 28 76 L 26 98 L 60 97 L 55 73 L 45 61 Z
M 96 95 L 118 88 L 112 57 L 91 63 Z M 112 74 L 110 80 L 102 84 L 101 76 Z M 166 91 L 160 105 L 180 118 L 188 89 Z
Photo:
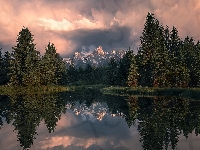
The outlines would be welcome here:
M 129 86 L 199 87 L 200 42 L 182 40 L 175 27 L 169 32 L 148 13 L 138 54 L 133 56 Z

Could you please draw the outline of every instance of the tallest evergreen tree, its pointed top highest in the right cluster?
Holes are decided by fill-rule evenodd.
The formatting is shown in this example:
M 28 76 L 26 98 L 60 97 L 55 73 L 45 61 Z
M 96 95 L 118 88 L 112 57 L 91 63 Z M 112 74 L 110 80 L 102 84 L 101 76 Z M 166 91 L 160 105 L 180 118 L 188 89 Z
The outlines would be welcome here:
M 138 50 L 138 83 L 141 86 L 166 86 L 167 49 L 164 41 L 164 28 L 148 13 Z

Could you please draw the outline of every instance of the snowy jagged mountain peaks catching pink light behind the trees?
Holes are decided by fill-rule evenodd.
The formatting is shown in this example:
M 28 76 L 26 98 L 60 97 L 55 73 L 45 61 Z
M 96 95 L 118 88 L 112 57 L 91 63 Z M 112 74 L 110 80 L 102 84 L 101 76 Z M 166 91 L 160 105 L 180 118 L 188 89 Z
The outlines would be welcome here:
M 66 62 L 67 68 L 70 64 L 74 64 L 75 68 L 85 68 L 87 64 L 92 66 L 107 66 L 111 58 L 119 60 L 123 58 L 125 50 L 111 50 L 110 52 L 104 52 L 102 47 L 99 46 L 92 53 L 82 51 L 81 53 L 75 52 L 70 58 L 63 58 Z

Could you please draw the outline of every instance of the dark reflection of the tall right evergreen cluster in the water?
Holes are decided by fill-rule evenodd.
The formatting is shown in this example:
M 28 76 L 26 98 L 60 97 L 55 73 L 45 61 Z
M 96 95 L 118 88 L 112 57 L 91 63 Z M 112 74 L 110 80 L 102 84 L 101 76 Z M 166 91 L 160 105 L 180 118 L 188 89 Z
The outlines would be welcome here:
M 162 150 L 171 146 L 176 149 L 179 136 L 200 129 L 200 102 L 177 97 L 129 97 L 127 99 L 130 126 L 135 118 L 141 120 L 138 131 L 143 148 Z M 134 116 L 134 117 L 133 117 Z M 191 146 L 190 146 L 191 147 Z

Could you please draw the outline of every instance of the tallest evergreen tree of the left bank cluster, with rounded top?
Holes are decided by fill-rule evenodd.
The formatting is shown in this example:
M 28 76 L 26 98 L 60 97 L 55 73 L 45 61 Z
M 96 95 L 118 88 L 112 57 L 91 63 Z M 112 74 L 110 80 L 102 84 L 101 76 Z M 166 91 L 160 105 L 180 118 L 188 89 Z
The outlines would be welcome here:
M 17 46 L 11 54 L 11 85 L 34 85 L 35 70 L 37 68 L 38 53 L 33 44 L 33 35 L 28 28 L 23 28 L 17 38 Z

